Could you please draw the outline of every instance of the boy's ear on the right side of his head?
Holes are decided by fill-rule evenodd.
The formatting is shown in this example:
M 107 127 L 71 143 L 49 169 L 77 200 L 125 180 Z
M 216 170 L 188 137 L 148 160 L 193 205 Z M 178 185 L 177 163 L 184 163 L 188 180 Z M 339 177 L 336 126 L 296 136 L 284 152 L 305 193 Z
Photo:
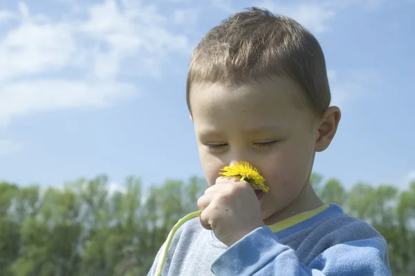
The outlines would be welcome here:
M 324 111 L 320 126 L 318 126 L 317 141 L 315 141 L 315 151 L 322 152 L 329 147 L 331 140 L 338 129 L 340 117 L 342 117 L 340 108 L 331 106 Z

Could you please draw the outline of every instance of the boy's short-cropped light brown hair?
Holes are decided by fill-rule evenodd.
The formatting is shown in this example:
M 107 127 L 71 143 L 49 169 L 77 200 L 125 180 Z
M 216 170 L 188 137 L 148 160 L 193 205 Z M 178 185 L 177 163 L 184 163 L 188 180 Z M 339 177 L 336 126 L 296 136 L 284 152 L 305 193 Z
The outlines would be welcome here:
M 331 93 L 320 43 L 297 21 L 266 9 L 234 13 L 212 28 L 192 52 L 186 100 L 194 83 L 246 83 L 286 76 L 304 92 L 311 110 L 329 108 Z

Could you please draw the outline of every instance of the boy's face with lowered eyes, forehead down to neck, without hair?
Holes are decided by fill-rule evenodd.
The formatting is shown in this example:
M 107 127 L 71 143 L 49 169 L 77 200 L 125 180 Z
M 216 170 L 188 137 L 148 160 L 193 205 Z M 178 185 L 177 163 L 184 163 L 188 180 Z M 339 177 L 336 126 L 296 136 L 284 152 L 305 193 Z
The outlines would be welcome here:
M 248 161 L 270 187 L 259 199 L 264 220 L 307 190 L 315 151 L 328 146 L 317 142 L 327 130 L 291 81 L 275 77 L 239 86 L 194 85 L 190 105 L 210 186 L 224 166 Z

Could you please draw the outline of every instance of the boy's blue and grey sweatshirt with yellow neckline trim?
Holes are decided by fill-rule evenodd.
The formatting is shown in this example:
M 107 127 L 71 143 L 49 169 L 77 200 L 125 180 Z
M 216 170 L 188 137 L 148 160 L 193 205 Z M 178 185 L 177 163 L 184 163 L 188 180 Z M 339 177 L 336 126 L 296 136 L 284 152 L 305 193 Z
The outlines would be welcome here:
M 163 245 L 164 246 L 164 245 Z M 160 250 L 148 276 L 153 276 Z M 257 228 L 228 247 L 199 217 L 174 235 L 163 276 L 391 275 L 385 239 L 336 204 Z

